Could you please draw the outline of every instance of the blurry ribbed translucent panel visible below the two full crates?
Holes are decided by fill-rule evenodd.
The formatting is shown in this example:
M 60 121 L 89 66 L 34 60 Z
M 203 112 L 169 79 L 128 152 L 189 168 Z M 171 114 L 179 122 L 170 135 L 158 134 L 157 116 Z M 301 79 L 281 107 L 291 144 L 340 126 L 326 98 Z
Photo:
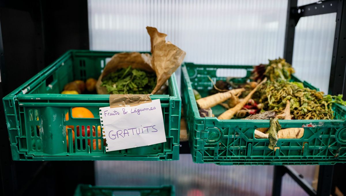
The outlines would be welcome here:
M 315 166 L 293 166 L 309 183 Z M 172 184 L 177 196 L 271 195 L 273 166 L 195 164 L 191 155 L 179 161 L 95 161 L 96 185 L 154 186 Z M 291 177 L 282 181 L 282 195 L 305 196 Z

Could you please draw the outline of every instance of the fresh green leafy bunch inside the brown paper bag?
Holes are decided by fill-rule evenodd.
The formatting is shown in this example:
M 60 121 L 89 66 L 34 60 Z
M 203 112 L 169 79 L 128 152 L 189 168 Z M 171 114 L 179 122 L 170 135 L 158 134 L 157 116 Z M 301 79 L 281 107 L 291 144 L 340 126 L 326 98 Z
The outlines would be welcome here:
M 156 74 L 139 69 L 118 69 L 102 78 L 109 94 L 149 94 L 156 86 Z

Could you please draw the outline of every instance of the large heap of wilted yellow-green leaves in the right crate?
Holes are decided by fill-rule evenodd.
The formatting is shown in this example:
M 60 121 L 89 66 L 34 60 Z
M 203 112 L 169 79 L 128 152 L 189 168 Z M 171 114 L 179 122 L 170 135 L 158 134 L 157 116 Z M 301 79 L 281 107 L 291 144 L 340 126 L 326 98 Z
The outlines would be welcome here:
M 255 95 L 258 101 L 264 103 L 264 110 L 280 112 L 285 109 L 286 100 L 290 101 L 293 119 L 297 120 L 329 120 L 334 119 L 331 98 L 323 92 L 303 87 L 298 82 L 267 81 Z

